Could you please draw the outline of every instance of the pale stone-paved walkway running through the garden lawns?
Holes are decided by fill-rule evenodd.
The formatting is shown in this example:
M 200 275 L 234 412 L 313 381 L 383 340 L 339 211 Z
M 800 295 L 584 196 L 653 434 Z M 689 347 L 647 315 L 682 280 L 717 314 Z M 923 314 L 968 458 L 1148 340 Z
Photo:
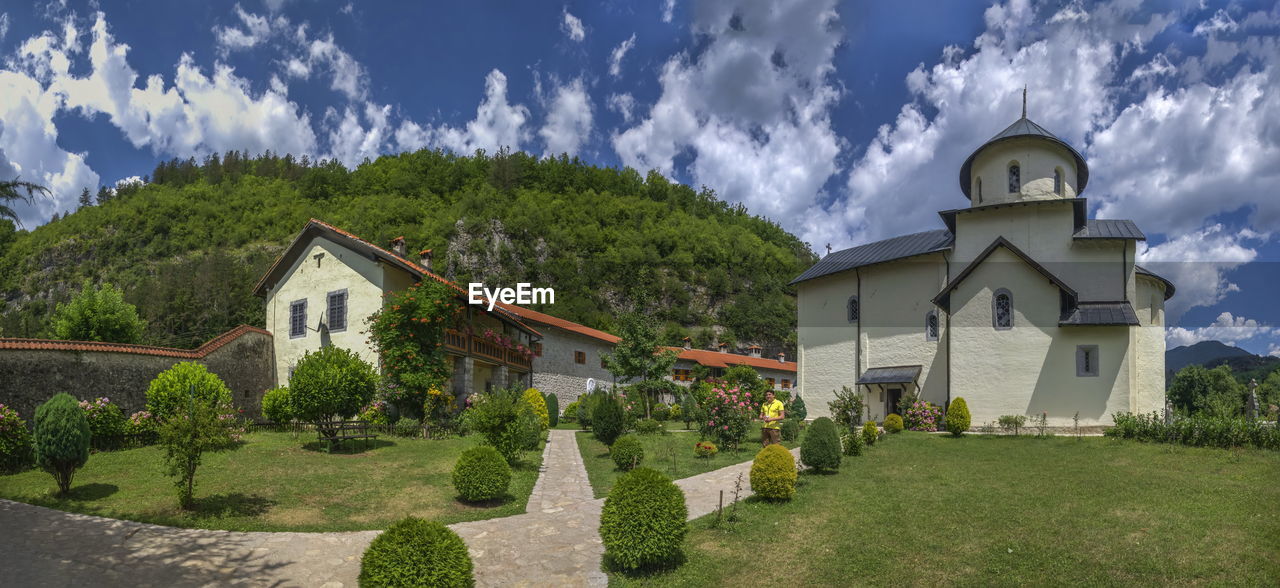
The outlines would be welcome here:
M 795 452 L 795 451 L 794 451 Z M 524 515 L 449 525 L 467 543 L 479 585 L 605 585 L 600 571 L 603 500 L 591 498 L 572 430 L 552 430 L 543 473 Z M 751 464 L 677 480 L 689 518 L 732 500 Z M 237 533 L 177 529 L 76 515 L 0 500 L 4 585 L 305 585 L 355 587 L 360 557 L 376 530 Z

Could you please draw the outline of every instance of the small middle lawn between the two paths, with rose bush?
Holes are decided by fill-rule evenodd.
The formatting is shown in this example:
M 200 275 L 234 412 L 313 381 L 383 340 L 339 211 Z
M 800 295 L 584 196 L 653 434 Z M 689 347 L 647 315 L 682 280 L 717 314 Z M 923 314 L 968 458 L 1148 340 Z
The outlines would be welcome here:
M 671 427 L 678 424 L 667 423 Z M 635 434 L 635 433 L 632 433 Z M 759 437 L 748 438 L 739 452 L 721 451 L 713 457 L 698 457 L 694 455 L 694 445 L 698 443 L 698 433 L 690 430 L 668 430 L 666 434 L 636 434 L 644 446 L 644 465 L 662 471 L 671 479 L 689 478 L 704 471 L 718 470 L 721 468 L 750 461 L 760 450 Z M 783 443 L 795 447 L 795 443 Z M 577 433 L 577 450 L 582 453 L 582 462 L 586 465 L 586 477 L 591 480 L 591 492 L 596 498 L 602 498 L 613 488 L 613 483 L 625 471 L 617 469 L 609 457 L 609 448 L 600 443 L 589 432 Z

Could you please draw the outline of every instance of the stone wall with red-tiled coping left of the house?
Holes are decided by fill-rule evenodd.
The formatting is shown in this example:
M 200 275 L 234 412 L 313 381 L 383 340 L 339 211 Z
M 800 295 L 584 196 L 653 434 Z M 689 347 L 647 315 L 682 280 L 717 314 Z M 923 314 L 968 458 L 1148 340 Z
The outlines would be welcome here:
M 151 380 L 182 361 L 205 364 L 246 416 L 261 415 L 262 393 L 275 382 L 271 334 L 247 325 L 196 350 L 0 338 L 0 404 L 29 421 L 40 404 L 67 392 L 81 400 L 105 396 L 128 415 L 146 407 Z

